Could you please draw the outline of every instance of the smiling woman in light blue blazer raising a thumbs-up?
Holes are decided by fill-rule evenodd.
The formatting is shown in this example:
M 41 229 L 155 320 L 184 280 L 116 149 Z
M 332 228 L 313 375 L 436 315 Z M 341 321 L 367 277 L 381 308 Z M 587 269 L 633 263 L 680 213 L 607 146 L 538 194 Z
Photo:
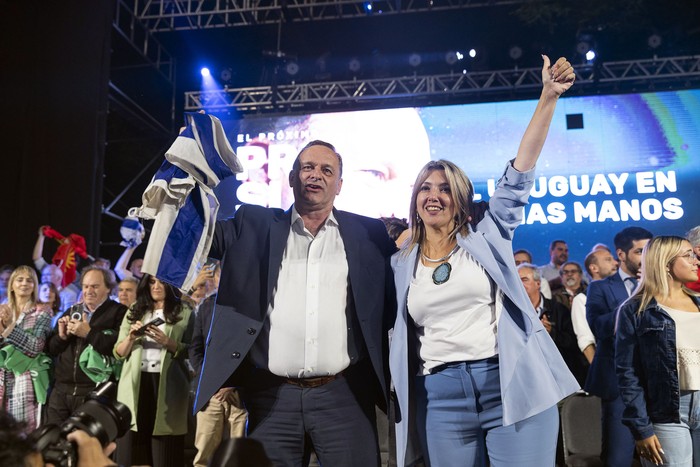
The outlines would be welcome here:
M 554 108 L 575 78 L 565 58 L 543 60 L 537 109 L 474 230 L 473 188 L 460 168 L 432 161 L 416 179 L 411 238 L 392 258 L 397 465 L 414 429 L 428 466 L 554 465 L 556 404 L 578 384 L 525 293 L 512 250 Z

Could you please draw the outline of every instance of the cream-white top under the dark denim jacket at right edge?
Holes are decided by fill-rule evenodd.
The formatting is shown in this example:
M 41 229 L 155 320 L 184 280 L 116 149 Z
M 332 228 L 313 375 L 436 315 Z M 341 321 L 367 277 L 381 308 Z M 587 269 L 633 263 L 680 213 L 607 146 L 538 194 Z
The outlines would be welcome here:
M 678 383 L 682 391 L 700 390 L 700 313 L 659 305 L 676 322 Z

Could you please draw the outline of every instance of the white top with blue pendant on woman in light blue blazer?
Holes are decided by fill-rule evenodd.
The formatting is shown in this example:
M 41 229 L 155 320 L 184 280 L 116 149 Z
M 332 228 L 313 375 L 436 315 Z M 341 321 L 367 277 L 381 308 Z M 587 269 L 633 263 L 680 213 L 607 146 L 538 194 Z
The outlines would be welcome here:
M 432 278 L 435 268 L 419 260 L 408 290 L 408 313 L 420 342 L 421 374 L 443 363 L 481 360 L 498 353 L 496 285 L 461 248 L 449 263 L 450 278 L 437 285 Z

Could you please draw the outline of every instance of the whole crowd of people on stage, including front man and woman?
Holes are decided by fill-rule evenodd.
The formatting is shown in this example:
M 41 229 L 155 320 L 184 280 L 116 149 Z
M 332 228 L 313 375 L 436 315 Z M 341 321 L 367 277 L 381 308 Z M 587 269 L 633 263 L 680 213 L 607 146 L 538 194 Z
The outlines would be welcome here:
M 575 79 L 566 59 L 543 61 L 537 108 L 487 203 L 436 160 L 417 175 L 408 221 L 337 210 L 342 157 L 312 141 L 289 174 L 292 208 L 244 205 L 217 222 L 187 291 L 142 273 L 131 246 L 114 271 L 97 258 L 79 287 L 64 285 L 40 229 L 34 267 L 0 268 L 11 416 L 0 420 L 25 433 L 60 424 L 116 381 L 132 414 L 121 465 L 184 465 L 194 409 L 197 466 L 224 465 L 224 440 L 244 437 L 269 465 L 307 465 L 313 452 L 326 466 L 378 466 L 377 406 L 396 465 L 541 467 L 561 459 L 558 404 L 583 388 L 602 401 L 605 465 L 632 465 L 635 451 L 693 465 L 700 226 L 687 238 L 626 227 L 582 263 L 561 239 L 541 267 L 513 251 Z

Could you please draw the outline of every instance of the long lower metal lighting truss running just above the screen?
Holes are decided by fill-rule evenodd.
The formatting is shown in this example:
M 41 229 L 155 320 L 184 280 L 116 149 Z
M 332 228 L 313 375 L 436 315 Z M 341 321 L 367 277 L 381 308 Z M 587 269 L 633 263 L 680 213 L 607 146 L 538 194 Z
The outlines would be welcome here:
M 279 86 L 231 88 L 221 91 L 185 93 L 185 110 L 206 108 L 209 112 L 277 112 L 317 109 L 320 105 L 344 106 L 344 109 L 392 101 L 440 103 L 522 98 L 541 86 L 541 69 L 450 73 L 430 76 L 363 79 L 298 83 Z M 626 60 L 576 66 L 576 89 L 579 94 L 593 92 L 645 91 L 665 85 L 669 89 L 700 86 L 700 56 Z M 533 94 L 534 95 L 534 94 Z M 406 105 L 406 104 L 404 104 Z M 408 104 L 410 105 L 410 104 Z M 338 110 L 341 110 L 338 108 Z

